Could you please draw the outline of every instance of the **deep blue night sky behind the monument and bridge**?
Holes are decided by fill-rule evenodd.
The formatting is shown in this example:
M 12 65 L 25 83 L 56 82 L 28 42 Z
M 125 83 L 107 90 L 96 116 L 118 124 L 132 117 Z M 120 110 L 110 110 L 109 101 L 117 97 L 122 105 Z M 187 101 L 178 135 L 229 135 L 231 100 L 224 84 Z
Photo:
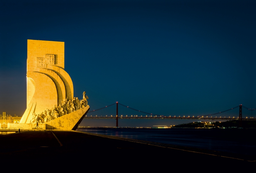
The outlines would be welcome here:
M 115 102 L 164 116 L 256 108 L 255 9 L 255 1 L 1 1 L 0 114 L 26 109 L 28 39 L 65 42 L 74 96 L 86 91 L 91 110 Z

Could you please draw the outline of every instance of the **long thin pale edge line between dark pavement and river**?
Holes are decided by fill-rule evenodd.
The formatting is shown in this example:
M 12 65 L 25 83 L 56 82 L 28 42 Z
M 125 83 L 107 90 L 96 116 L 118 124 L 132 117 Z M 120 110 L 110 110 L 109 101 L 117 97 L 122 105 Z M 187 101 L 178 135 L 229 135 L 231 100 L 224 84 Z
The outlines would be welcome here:
M 74 132 L 79 132 L 79 131 L 74 131 Z M 79 133 L 85 133 L 85 134 L 89 134 L 89 135 L 100 136 L 100 135 L 97 135 L 97 134 L 90 134 L 90 133 L 86 133 L 86 132 L 79 132 Z M 106 136 L 100 136 L 100 137 L 110 138 L 110 137 L 106 137 Z M 118 138 L 110 138 L 110 139 L 118 139 Z M 125 140 L 125 139 L 118 139 L 118 140 L 124 140 L 124 141 L 129 141 L 129 142 L 146 144 L 146 143 L 142 143 L 142 142 L 130 141 L 130 140 Z M 158 146 L 158 145 L 153 145 L 153 144 L 148 144 L 148 145 L 152 145 L 152 146 L 156 146 L 156 147 L 163 147 L 163 146 Z M 183 149 L 179 149 L 179 148 L 172 148 L 172 147 L 163 147 L 163 148 L 171 148 L 171 149 L 175 149 L 175 150 L 187 151 L 187 152 L 192 152 L 192 153 L 199 153 L 199 154 L 207 154 L 207 155 L 213 155 L 213 156 L 226 157 L 226 158 L 230 158 L 230 159 L 243 160 L 243 161 L 247 161 L 247 162 L 256 162 L 256 161 L 249 161 L 249 160 L 238 159 L 238 158 L 234 158 L 234 157 L 221 156 L 221 155 L 216 155 L 216 154 L 208 154 L 208 153 L 201 153 L 201 152 L 190 151 L 190 150 L 183 150 Z

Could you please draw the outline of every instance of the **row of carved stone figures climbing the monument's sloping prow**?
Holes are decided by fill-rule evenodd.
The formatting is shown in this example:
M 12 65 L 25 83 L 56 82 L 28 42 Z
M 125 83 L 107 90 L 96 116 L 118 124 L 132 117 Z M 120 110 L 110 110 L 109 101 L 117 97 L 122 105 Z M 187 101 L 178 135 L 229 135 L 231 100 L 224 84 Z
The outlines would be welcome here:
M 85 93 L 86 92 L 84 91 L 82 100 L 79 100 L 78 97 L 74 97 L 73 100 L 68 101 L 66 99 L 65 101 L 62 101 L 59 106 L 54 106 L 52 109 L 46 109 L 40 114 L 36 115 L 34 112 L 29 123 L 46 123 L 63 115 L 74 112 L 78 109 L 84 108 L 85 106 L 88 106 L 87 99 L 89 99 L 89 97 L 85 95 Z

